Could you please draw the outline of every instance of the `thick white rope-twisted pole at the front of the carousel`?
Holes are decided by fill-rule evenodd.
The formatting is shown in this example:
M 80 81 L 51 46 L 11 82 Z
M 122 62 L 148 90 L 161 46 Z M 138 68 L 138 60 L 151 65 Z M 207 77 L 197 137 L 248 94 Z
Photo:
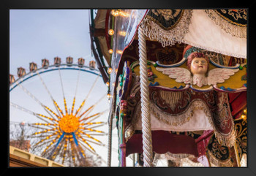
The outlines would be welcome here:
M 146 56 L 146 37 L 141 26 L 138 28 L 139 61 L 140 61 L 140 95 L 143 132 L 143 162 L 144 167 L 153 167 L 153 151 L 151 141 L 151 120 L 149 115 L 149 91 Z

